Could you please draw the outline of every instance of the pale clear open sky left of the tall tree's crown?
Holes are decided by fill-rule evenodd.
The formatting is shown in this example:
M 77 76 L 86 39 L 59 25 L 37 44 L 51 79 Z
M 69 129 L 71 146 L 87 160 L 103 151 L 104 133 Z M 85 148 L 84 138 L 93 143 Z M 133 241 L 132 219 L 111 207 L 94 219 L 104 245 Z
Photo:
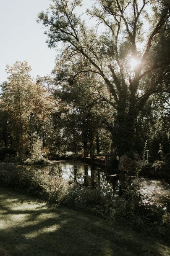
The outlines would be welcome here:
M 49 49 L 37 13 L 50 0 L 0 0 L 0 83 L 6 80 L 5 67 L 16 60 L 27 61 L 31 76 L 50 74 L 55 65 L 54 49 Z

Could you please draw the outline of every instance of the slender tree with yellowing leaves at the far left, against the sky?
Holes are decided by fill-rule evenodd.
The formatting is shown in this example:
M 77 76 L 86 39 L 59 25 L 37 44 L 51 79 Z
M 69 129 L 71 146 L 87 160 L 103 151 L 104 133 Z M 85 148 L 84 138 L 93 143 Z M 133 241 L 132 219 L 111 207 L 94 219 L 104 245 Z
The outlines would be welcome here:
M 7 66 L 8 82 L 2 86 L 2 102 L 4 110 L 10 113 L 10 124 L 14 148 L 18 151 L 18 158 L 23 159 L 29 150 L 28 115 L 30 111 L 29 75 L 31 68 L 27 62 L 16 62 L 12 67 Z

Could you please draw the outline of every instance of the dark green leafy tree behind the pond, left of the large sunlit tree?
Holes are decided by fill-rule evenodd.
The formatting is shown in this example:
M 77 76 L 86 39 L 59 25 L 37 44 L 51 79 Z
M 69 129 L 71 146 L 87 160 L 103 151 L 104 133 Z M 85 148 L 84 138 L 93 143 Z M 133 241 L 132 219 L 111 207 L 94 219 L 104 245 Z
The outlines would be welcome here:
M 108 116 L 110 106 L 102 97 L 103 88 L 97 76 L 88 72 L 77 73 L 80 70 L 80 61 L 81 67 L 85 65 L 84 59 L 75 57 L 67 65 L 65 59 L 63 57 L 63 61 L 60 59 L 56 63 L 54 79 L 50 82 L 53 87 L 50 91 L 57 106 L 53 115 L 55 133 L 58 133 L 60 127 L 63 143 L 68 151 L 78 152 L 83 147 L 84 157 L 90 152 L 92 158 L 95 139 L 99 130 L 105 128 L 104 119 Z

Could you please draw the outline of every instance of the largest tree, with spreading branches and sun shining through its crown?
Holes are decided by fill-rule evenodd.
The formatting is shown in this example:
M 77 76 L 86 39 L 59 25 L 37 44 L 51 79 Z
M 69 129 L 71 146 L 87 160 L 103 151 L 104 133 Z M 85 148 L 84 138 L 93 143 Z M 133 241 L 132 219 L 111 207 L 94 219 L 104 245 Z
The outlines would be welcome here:
M 107 86 L 116 110 L 112 138 L 121 156 L 134 150 L 137 118 L 147 100 L 164 90 L 170 64 L 170 5 L 167 0 L 97 0 L 87 13 L 106 26 L 102 34 L 76 15 L 81 5 L 81 0 L 53 0 L 49 12 L 39 13 L 39 22 L 48 28 L 50 47 L 63 43 L 68 61 L 83 56 L 86 67 L 79 72 L 98 74 Z

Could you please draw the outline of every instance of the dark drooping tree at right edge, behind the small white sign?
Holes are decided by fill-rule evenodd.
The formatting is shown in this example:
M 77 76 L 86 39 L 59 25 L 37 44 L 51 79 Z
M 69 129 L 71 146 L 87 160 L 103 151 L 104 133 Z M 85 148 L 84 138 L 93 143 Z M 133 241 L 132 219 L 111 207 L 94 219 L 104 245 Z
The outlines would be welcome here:
M 149 160 L 159 159 L 160 144 L 165 155 L 170 149 L 170 105 L 165 92 L 153 94 L 146 102 L 138 118 L 136 149 L 140 154 L 147 140 Z

